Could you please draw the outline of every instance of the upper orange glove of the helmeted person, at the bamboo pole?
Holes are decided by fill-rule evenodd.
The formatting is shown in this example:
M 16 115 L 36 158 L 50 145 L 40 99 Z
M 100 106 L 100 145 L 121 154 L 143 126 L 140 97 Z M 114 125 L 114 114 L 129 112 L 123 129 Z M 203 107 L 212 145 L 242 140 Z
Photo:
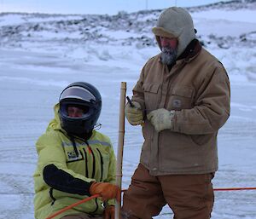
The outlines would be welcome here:
M 100 194 L 102 201 L 107 201 L 108 199 L 117 199 L 120 201 L 121 191 L 119 187 L 109 182 L 93 182 L 90 185 L 89 192 L 91 195 Z

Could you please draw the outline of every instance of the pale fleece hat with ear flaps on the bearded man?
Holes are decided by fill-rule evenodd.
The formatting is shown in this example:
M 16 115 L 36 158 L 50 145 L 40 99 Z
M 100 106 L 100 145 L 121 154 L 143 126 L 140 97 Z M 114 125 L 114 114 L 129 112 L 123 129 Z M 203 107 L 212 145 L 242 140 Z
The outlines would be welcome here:
M 191 15 L 185 9 L 177 7 L 165 9 L 160 14 L 152 32 L 154 32 L 160 49 L 160 37 L 176 37 L 178 41 L 177 57 L 195 39 L 195 28 Z

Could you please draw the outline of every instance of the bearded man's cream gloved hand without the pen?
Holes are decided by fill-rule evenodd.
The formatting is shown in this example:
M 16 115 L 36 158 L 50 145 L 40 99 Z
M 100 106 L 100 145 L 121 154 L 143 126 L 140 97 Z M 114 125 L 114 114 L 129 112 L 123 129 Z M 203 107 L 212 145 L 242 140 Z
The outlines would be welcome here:
M 154 125 L 154 130 L 160 132 L 161 130 L 168 130 L 172 128 L 172 118 L 175 111 L 168 111 L 164 108 L 149 112 L 148 120 Z

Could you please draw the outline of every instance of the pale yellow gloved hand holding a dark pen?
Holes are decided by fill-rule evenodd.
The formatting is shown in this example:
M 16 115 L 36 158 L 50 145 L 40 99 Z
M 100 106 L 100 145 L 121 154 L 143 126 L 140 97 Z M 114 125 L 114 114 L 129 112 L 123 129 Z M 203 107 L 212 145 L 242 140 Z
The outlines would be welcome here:
M 143 123 L 143 111 L 141 105 L 137 101 L 131 101 L 134 107 L 131 107 L 130 103 L 125 106 L 125 116 L 128 122 L 132 125 Z

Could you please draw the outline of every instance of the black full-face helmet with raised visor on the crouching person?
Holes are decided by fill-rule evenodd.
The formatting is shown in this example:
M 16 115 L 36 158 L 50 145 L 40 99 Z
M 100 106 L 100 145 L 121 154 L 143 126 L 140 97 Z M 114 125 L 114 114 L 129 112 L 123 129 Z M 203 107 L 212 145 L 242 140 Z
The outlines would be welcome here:
M 69 135 L 83 136 L 94 129 L 102 110 L 102 96 L 91 84 L 76 82 L 69 84 L 61 92 L 60 99 L 61 127 Z M 82 117 L 72 118 L 67 114 L 67 107 L 84 109 Z

